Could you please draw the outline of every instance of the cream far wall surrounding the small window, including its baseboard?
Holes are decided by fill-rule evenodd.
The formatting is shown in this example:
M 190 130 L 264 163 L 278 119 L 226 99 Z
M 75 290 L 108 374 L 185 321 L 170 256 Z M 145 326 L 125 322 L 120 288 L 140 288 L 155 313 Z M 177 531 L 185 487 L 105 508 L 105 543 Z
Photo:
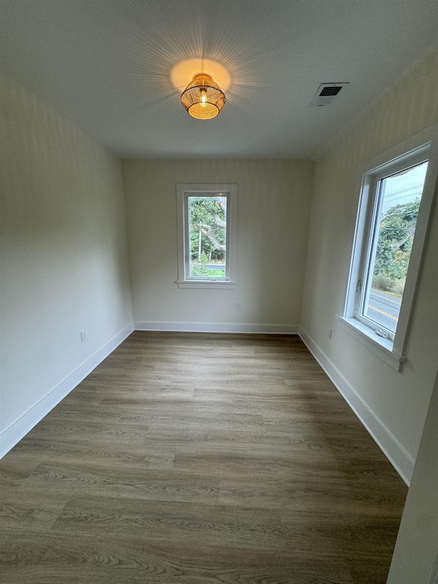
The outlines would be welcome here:
M 136 326 L 299 325 L 313 162 L 131 160 L 123 161 L 123 175 Z M 177 287 L 177 183 L 237 183 L 235 290 Z

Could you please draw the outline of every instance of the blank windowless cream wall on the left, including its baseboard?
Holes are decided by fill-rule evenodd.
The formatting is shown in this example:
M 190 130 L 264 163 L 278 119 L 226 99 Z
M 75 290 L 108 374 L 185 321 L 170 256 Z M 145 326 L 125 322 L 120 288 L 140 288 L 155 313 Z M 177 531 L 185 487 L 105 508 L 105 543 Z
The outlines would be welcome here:
M 4 451 L 132 313 L 120 160 L 8 77 L 0 87 Z

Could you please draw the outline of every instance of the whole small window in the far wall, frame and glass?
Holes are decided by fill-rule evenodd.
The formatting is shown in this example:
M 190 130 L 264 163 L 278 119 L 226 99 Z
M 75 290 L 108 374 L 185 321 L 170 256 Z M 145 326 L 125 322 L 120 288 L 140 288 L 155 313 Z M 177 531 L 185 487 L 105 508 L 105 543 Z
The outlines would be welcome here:
M 179 288 L 235 288 L 237 185 L 177 185 Z

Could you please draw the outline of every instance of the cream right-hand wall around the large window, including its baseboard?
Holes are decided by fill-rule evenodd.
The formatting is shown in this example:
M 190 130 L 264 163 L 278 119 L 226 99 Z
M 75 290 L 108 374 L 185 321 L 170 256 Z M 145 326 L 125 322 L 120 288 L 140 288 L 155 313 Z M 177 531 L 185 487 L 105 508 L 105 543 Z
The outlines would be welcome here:
M 344 307 L 363 165 L 437 122 L 437 79 L 438 55 L 433 55 L 346 127 L 316 164 L 302 305 L 305 335 L 381 433 L 392 458 L 399 454 L 400 464 L 406 463 L 406 475 L 420 443 L 438 364 L 436 211 L 402 372 L 339 329 L 336 314 Z

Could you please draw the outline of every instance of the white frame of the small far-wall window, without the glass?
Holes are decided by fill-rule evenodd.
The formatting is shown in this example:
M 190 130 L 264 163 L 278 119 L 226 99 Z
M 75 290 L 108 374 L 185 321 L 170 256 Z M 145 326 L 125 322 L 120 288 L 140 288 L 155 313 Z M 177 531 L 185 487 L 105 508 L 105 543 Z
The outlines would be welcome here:
M 226 272 L 223 278 L 196 278 L 189 272 L 188 197 L 227 196 Z M 237 184 L 177 184 L 179 288 L 231 290 L 236 286 Z

